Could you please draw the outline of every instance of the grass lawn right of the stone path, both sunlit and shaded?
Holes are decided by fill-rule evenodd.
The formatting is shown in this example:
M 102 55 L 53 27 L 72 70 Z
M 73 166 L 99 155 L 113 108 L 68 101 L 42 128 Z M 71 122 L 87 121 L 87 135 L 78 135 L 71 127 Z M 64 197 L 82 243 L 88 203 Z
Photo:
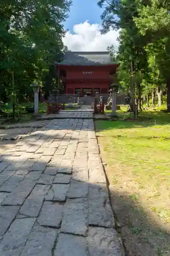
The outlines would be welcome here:
M 137 120 L 95 121 L 130 255 L 170 255 L 169 124 L 170 114 L 160 110 L 143 112 Z

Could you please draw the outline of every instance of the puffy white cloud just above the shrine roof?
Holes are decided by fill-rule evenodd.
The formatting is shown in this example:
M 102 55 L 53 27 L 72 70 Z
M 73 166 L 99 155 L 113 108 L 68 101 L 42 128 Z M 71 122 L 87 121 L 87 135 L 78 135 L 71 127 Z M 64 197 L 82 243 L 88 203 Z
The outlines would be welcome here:
M 71 51 L 106 51 L 108 46 L 118 47 L 118 31 L 101 34 L 101 25 L 88 21 L 74 25 L 74 34 L 68 31 L 63 38 L 64 45 Z

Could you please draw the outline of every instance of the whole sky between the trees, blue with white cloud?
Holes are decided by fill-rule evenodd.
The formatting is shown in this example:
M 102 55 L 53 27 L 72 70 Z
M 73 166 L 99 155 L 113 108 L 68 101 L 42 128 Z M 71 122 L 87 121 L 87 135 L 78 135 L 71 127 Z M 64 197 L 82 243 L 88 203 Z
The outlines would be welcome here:
M 118 31 L 101 34 L 101 14 L 98 0 L 72 0 L 69 17 L 65 23 L 68 31 L 64 45 L 71 51 L 106 51 L 108 46 L 118 47 Z

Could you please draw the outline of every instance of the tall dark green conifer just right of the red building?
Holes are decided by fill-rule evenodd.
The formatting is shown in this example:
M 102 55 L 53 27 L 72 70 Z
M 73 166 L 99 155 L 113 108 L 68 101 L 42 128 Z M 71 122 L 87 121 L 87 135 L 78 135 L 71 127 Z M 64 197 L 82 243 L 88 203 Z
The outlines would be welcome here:
M 131 91 L 134 101 L 134 88 L 141 102 L 141 80 L 148 69 L 145 52 L 145 38 L 136 27 L 138 2 L 134 0 L 100 0 L 100 7 L 105 7 L 102 14 L 103 33 L 110 28 L 120 29 L 119 35 L 119 69 L 118 76 L 127 91 Z M 134 111 L 134 102 L 131 109 Z M 139 108 L 141 108 L 139 104 Z

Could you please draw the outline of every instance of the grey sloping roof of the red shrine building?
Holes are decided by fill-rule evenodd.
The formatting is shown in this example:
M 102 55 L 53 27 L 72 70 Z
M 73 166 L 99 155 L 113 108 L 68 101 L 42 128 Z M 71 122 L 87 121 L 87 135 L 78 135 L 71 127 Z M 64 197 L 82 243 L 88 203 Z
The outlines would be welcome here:
M 67 66 L 101 66 L 117 64 L 111 61 L 109 52 L 71 52 L 64 54 L 62 62 L 58 65 Z

